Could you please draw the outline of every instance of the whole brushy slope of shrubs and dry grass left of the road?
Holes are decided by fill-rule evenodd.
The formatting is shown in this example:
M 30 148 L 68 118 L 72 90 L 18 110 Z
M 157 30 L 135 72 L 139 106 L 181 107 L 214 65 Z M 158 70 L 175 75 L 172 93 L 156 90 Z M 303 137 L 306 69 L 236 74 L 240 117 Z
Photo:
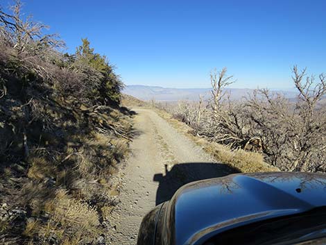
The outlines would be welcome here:
M 62 53 L 21 10 L 0 8 L 0 243 L 96 244 L 129 151 L 123 83 L 87 39 Z

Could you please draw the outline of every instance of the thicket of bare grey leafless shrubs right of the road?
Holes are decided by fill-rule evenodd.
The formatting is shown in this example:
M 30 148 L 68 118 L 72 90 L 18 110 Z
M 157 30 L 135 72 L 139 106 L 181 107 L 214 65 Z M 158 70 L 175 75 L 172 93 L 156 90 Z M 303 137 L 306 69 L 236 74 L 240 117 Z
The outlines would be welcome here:
M 284 171 L 326 171 L 326 109 L 322 103 L 326 78 L 323 74 L 307 76 L 306 69 L 293 67 L 292 79 L 298 91 L 295 101 L 267 89 L 232 101 L 225 88 L 234 81 L 223 69 L 212 72 L 209 101 L 200 97 L 198 103 L 157 106 L 189 125 L 194 135 L 227 146 L 234 154 L 239 149 L 262 154 L 268 164 Z M 223 161 L 223 154 L 218 160 Z

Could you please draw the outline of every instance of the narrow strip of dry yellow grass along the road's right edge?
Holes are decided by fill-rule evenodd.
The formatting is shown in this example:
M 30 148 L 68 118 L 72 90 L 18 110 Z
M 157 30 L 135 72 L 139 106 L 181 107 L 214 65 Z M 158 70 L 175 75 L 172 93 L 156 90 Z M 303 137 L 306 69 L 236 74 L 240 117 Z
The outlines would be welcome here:
M 266 162 L 260 153 L 243 151 L 242 149 L 232 150 L 228 146 L 223 146 L 215 142 L 208 142 L 203 137 L 195 136 L 191 133 L 192 128 L 186 124 L 173 119 L 172 116 L 164 110 L 153 109 L 160 117 L 177 129 L 180 133 L 186 135 L 203 149 L 213 155 L 217 162 L 228 164 L 243 173 L 247 172 L 264 172 L 264 171 L 280 171 L 277 167 L 273 167 Z

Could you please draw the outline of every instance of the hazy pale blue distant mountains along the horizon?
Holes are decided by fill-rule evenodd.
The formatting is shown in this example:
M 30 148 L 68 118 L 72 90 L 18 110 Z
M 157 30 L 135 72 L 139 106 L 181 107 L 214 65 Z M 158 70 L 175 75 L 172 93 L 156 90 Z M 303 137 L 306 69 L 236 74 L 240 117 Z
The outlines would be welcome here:
M 146 85 L 127 85 L 123 93 L 136 97 L 144 101 L 154 99 L 155 101 L 179 101 L 179 100 L 190 100 L 197 101 L 199 95 L 204 96 L 208 99 L 210 96 L 210 88 L 169 88 L 169 87 L 157 87 L 157 86 L 146 86 Z M 252 89 L 240 89 L 230 88 L 227 89 L 231 94 L 231 99 L 239 100 L 243 96 L 252 94 Z M 280 92 L 289 99 L 295 98 L 295 90 L 273 90 L 274 92 Z

